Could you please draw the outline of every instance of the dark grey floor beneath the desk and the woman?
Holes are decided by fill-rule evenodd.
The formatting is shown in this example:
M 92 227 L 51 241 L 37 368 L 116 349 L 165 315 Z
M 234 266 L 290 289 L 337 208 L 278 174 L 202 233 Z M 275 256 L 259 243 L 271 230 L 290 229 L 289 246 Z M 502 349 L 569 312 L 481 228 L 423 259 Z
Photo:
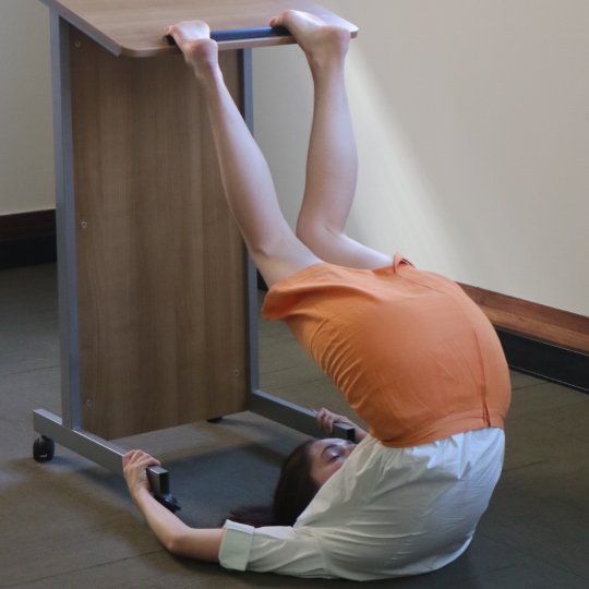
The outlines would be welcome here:
M 351 587 L 347 581 L 238 574 L 160 548 L 120 477 L 57 446 L 32 458 L 34 409 L 61 413 L 53 265 L 0 272 L 0 587 Z M 280 324 L 261 326 L 262 388 L 311 407 L 346 409 Z M 502 480 L 467 553 L 422 577 L 374 588 L 589 587 L 589 396 L 513 374 Z M 269 497 L 303 436 L 240 413 L 121 441 L 170 470 L 181 517 L 215 526 L 240 503 Z

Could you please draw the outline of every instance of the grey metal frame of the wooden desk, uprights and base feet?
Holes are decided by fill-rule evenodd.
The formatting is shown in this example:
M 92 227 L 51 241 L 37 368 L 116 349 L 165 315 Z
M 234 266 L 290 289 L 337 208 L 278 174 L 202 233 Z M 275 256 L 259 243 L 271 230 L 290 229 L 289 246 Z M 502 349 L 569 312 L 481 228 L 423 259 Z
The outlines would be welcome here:
M 51 11 L 51 64 L 53 79 L 55 157 L 58 226 L 58 283 L 59 325 L 61 347 L 61 408 L 62 416 L 44 409 L 34 411 L 34 430 L 45 438 L 88 458 L 112 472 L 122 474 L 122 456 L 125 449 L 107 442 L 81 426 L 81 384 L 79 357 L 79 324 L 76 293 L 76 252 L 73 185 L 73 141 L 70 100 L 70 45 L 69 23 Z M 251 49 L 241 49 L 243 65 L 243 113 L 253 132 L 253 92 Z M 248 265 L 247 305 L 249 339 L 249 392 L 247 406 L 250 411 L 273 421 L 316 435 L 313 411 L 279 399 L 260 390 L 257 341 L 257 275 L 251 260 Z M 336 424 L 334 437 L 354 438 L 354 429 Z M 168 472 L 161 468 L 148 469 L 154 495 L 169 493 Z

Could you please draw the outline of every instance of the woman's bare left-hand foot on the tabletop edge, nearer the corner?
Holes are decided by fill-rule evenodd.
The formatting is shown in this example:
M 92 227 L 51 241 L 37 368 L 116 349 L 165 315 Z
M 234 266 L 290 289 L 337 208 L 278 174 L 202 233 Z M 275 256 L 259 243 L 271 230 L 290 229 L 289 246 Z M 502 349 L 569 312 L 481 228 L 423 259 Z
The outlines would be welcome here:
M 211 29 L 206 23 L 183 21 L 168 26 L 166 35 L 173 36 L 196 77 L 203 77 L 218 71 L 217 43 L 211 38 Z

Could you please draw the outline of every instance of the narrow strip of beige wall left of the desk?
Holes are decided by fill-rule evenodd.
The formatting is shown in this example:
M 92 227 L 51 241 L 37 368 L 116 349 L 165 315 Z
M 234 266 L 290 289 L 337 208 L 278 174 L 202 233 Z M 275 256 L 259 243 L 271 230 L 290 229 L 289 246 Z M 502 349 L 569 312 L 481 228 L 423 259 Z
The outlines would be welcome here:
M 55 207 L 48 15 L 0 1 L 0 215 Z

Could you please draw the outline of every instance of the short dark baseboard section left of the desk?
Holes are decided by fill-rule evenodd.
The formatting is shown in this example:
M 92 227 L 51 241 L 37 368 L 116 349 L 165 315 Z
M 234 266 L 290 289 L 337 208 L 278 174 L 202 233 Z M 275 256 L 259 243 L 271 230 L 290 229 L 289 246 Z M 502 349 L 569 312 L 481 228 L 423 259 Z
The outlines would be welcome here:
M 57 261 L 56 212 L 0 215 L 0 269 Z

